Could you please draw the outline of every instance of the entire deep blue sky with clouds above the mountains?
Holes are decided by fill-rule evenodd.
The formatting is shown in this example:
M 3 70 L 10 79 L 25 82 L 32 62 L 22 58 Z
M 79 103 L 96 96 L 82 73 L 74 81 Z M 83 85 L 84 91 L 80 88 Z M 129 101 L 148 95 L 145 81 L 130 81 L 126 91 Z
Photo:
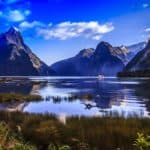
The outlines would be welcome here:
M 0 32 L 16 26 L 43 61 L 100 41 L 130 45 L 150 35 L 150 0 L 0 0 Z

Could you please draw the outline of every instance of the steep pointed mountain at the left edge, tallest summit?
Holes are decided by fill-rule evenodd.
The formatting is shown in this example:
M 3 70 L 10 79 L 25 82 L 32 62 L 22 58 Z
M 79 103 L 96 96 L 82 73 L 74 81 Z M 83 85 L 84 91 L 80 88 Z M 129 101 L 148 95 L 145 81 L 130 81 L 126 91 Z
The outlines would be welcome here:
M 19 30 L 11 27 L 0 34 L 0 75 L 38 76 L 53 71 L 24 43 Z

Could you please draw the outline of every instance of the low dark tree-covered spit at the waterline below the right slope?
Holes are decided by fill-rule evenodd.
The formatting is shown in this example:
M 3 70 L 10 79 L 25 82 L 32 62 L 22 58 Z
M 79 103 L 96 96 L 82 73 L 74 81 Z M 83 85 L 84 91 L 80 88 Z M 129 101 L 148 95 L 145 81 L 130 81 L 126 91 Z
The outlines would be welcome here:
M 118 77 L 150 77 L 150 70 L 137 70 L 132 72 L 119 72 Z

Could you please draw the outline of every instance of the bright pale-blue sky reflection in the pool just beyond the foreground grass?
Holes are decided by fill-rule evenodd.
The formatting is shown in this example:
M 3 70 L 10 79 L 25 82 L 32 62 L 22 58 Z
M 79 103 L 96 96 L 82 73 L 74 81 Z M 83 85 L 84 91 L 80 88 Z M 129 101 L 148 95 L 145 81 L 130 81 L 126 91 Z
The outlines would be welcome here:
M 61 104 L 54 104 L 51 101 L 44 101 L 44 102 L 39 102 L 38 105 L 37 103 L 30 103 L 24 111 L 28 112 L 38 112 L 38 113 L 43 113 L 43 112 L 50 112 L 54 114 L 65 114 L 67 116 L 72 116 L 72 115 L 85 115 L 85 116 L 94 116 L 96 115 L 99 110 L 98 108 L 92 108 L 91 110 L 85 109 L 85 106 L 81 104 L 80 100 L 73 101 L 71 103 L 68 102 L 61 102 Z

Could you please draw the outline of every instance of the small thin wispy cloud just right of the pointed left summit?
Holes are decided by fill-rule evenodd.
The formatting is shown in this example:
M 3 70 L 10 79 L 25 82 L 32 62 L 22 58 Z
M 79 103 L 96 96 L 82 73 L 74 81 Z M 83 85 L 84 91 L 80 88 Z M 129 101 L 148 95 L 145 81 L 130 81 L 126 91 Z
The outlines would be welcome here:
M 33 21 L 33 22 L 28 22 L 28 21 L 23 21 L 19 24 L 19 28 L 21 30 L 26 30 L 30 28 L 37 28 L 37 27 L 44 27 L 45 24 L 39 22 L 39 21 Z

